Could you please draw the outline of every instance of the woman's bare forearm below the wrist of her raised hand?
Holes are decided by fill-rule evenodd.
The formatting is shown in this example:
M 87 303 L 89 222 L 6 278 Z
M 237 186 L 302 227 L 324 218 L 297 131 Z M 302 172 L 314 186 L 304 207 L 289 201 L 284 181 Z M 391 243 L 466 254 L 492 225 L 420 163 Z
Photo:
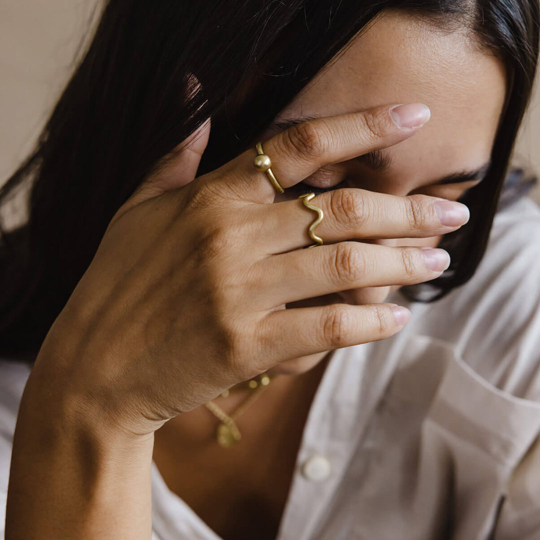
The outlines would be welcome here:
M 114 430 L 98 408 L 84 414 L 32 375 L 14 436 L 6 540 L 149 540 L 153 434 Z

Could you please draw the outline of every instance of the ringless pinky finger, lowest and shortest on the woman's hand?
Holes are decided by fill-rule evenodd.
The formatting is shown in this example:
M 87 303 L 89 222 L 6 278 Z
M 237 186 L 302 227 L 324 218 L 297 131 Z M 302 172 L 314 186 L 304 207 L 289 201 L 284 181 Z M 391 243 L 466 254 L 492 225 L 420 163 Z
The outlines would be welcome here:
M 280 309 L 262 323 L 266 357 L 281 362 L 380 341 L 402 330 L 409 319 L 406 307 L 390 303 Z

